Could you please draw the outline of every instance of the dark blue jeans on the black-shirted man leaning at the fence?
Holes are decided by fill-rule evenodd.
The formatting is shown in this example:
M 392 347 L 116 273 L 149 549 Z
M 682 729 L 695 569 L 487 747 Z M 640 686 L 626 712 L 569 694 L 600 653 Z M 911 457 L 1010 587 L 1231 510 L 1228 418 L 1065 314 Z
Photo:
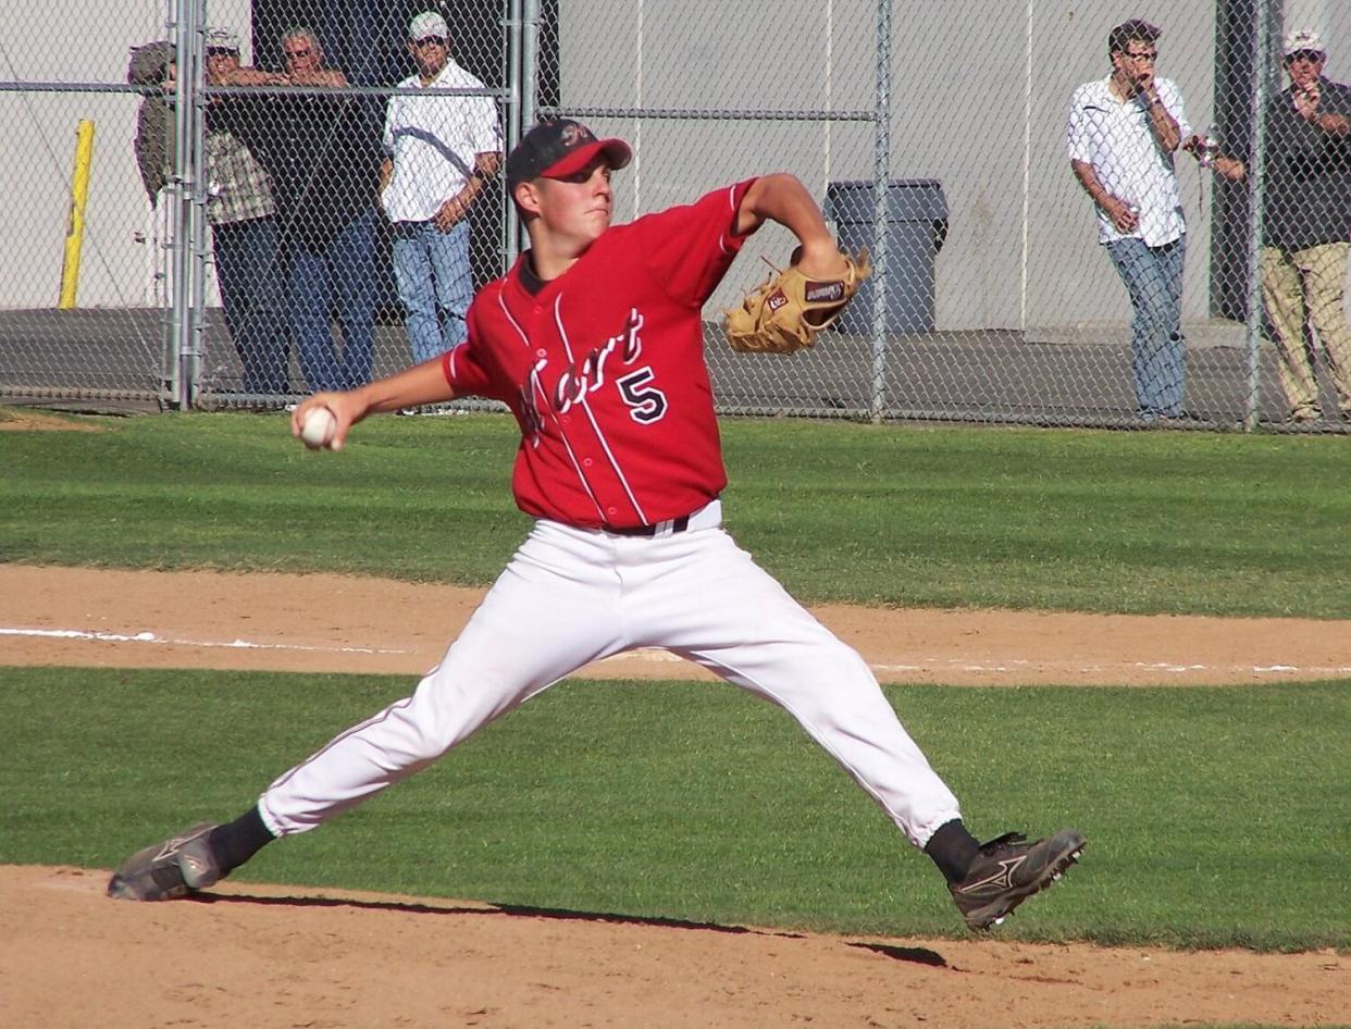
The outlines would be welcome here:
M 353 389 L 370 382 L 376 340 L 376 209 L 357 215 L 324 246 L 292 239 L 290 328 L 311 392 Z M 342 325 L 342 358 L 328 312 Z

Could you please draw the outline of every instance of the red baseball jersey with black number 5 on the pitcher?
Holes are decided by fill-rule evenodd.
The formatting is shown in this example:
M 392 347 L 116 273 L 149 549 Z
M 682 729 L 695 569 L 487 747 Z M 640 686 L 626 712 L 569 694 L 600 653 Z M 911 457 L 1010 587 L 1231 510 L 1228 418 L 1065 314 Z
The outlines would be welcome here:
M 515 413 L 527 514 L 632 528 L 727 485 L 701 311 L 746 239 L 735 219 L 753 181 L 612 226 L 553 281 L 523 254 L 480 290 L 442 367 L 457 396 Z

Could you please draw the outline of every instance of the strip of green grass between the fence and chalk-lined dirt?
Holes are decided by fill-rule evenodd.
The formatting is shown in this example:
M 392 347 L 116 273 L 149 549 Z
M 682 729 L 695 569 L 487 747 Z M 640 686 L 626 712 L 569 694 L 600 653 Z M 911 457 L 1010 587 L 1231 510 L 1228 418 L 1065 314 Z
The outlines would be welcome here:
M 486 583 L 526 533 L 505 416 L 0 432 L 0 560 Z M 730 528 L 807 601 L 1351 617 L 1340 438 L 724 423 Z

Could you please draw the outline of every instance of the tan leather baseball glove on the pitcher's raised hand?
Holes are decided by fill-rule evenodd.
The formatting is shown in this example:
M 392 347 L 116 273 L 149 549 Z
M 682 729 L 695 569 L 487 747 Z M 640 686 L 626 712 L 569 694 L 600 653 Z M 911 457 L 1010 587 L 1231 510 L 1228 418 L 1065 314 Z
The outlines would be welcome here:
M 793 257 L 797 257 L 797 251 Z M 866 248 L 859 251 L 857 259 L 844 254 L 844 261 L 848 262 L 848 269 L 843 278 L 808 278 L 796 265 L 789 265 L 782 271 L 775 269 L 739 308 L 724 312 L 727 319 L 723 328 L 732 350 L 792 354 L 812 346 L 816 334 L 839 317 L 863 280 L 873 273 Z

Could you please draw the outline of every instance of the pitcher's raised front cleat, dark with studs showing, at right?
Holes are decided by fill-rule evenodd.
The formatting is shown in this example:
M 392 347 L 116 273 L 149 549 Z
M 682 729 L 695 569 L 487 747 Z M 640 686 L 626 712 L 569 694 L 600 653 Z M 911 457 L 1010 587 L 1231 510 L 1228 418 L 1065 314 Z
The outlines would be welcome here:
M 1074 864 L 1088 840 L 1077 829 L 1027 843 L 1011 832 L 981 844 L 966 878 L 948 883 L 962 917 L 971 929 L 990 929 L 1023 901 L 1059 879 Z

